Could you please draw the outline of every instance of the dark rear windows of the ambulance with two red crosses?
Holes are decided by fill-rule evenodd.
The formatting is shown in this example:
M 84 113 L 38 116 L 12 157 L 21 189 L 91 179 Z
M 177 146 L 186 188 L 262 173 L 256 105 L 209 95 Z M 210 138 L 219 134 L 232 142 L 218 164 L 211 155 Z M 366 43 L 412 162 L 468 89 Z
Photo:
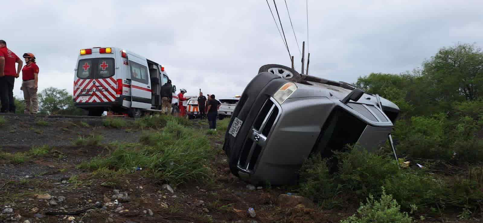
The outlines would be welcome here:
M 81 59 L 77 65 L 77 77 L 101 79 L 114 76 L 114 58 Z

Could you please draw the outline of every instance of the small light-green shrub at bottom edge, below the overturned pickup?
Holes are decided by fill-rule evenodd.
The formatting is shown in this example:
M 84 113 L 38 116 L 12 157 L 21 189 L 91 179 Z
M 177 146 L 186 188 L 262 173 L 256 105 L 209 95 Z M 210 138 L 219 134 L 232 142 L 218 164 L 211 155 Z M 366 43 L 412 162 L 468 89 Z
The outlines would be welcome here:
M 341 221 L 341 223 L 411 223 L 412 219 L 407 212 L 400 212 L 398 202 L 391 194 L 386 194 L 382 188 L 382 196 L 379 201 L 374 200 L 369 194 L 367 203 L 361 203 L 357 213 Z

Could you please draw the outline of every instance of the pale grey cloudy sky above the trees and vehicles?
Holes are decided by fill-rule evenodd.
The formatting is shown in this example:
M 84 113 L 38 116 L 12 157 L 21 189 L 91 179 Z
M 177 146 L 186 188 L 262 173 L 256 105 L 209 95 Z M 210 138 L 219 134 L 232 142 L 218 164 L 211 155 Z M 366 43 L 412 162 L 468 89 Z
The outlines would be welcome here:
M 286 1 L 300 48 L 308 41 L 309 73 L 323 78 L 402 73 L 443 46 L 483 46 L 481 0 L 308 0 L 309 35 L 306 2 Z M 285 3 L 276 3 L 300 71 Z M 2 8 L 0 39 L 19 57 L 36 55 L 39 90 L 72 92 L 79 50 L 95 46 L 157 61 L 178 89 L 194 95 L 201 88 L 218 99 L 241 94 L 264 64 L 290 66 L 266 0 L 16 0 Z M 20 84 L 14 94 L 23 97 Z

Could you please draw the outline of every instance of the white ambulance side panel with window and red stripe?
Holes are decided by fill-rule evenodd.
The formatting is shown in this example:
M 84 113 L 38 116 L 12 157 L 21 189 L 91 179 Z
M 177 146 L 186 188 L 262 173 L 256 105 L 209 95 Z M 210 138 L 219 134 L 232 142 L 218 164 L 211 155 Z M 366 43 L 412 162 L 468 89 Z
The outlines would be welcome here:
M 131 73 L 131 107 L 151 108 L 151 85 L 147 63 L 129 60 Z

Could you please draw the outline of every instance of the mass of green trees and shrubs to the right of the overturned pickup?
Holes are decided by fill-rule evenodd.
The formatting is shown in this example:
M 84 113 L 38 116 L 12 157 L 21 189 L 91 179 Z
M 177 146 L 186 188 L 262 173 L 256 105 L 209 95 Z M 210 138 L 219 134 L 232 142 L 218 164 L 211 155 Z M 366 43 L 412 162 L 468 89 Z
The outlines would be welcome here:
M 402 211 L 419 218 L 415 209 L 460 219 L 483 214 L 482 65 L 481 49 L 458 44 L 441 48 L 422 69 L 359 77 L 355 86 L 401 109 L 392 134 L 398 162 L 389 144 L 377 153 L 352 145 L 331 159 L 314 154 L 300 170 L 298 192 L 322 208 L 369 197 L 343 223 L 411 222 Z

